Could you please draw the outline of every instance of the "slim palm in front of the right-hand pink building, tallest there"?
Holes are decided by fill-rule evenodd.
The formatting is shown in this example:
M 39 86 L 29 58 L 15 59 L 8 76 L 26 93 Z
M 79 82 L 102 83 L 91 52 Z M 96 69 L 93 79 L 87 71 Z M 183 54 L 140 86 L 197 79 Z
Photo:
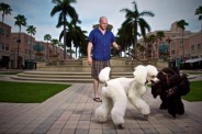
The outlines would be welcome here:
M 183 45 L 183 32 L 186 30 L 186 25 L 189 25 L 184 20 L 180 20 L 177 22 L 177 26 L 182 30 L 181 34 L 181 44 L 182 44 L 182 59 L 184 59 L 184 45 Z

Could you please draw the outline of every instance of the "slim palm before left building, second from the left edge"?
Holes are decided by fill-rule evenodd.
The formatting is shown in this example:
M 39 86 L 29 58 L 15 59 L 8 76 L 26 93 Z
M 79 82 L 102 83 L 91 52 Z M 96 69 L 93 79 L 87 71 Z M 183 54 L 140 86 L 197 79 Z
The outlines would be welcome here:
M 20 34 L 21 34 L 21 26 L 26 26 L 26 18 L 24 15 L 18 14 L 16 16 L 14 16 L 14 19 L 15 19 L 14 25 L 19 26 L 18 55 L 16 55 L 18 65 L 16 66 L 18 68 L 20 68 L 20 65 L 19 65 L 19 45 L 21 43 Z

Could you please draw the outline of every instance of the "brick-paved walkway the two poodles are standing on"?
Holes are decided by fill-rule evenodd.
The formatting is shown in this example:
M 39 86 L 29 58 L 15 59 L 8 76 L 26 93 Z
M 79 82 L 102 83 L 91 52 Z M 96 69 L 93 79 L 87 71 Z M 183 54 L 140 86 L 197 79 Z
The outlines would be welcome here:
M 2 77 L 0 77 L 2 79 Z M 8 77 L 4 80 L 10 80 Z M 200 134 L 202 133 L 202 102 L 183 101 L 186 113 L 173 119 L 159 110 L 159 98 L 150 89 L 144 96 L 152 113 L 148 121 L 128 103 L 124 130 L 114 126 L 111 116 L 106 123 L 94 120 L 100 105 L 92 100 L 91 83 L 72 86 L 43 103 L 0 103 L 0 133 L 34 134 Z

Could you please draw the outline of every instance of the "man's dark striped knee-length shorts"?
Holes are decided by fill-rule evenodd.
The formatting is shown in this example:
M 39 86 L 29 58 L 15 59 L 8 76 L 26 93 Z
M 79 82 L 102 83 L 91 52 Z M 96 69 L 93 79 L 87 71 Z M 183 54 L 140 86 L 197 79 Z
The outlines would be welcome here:
M 110 67 L 110 60 L 92 60 L 91 76 L 99 80 L 99 74 L 104 67 Z

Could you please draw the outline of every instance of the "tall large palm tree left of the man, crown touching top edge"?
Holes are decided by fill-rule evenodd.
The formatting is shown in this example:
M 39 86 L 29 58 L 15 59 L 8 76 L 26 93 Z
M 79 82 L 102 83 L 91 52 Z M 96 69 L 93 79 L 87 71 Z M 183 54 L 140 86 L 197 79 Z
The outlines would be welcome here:
M 66 35 L 66 23 L 67 23 L 67 15 L 71 19 L 78 20 L 78 14 L 76 10 L 70 5 L 70 3 L 77 2 L 76 0 L 52 0 L 55 3 L 50 15 L 54 16 L 56 13 L 59 13 L 58 23 L 63 23 L 64 26 L 64 58 L 66 59 L 66 45 L 67 45 L 67 35 Z

